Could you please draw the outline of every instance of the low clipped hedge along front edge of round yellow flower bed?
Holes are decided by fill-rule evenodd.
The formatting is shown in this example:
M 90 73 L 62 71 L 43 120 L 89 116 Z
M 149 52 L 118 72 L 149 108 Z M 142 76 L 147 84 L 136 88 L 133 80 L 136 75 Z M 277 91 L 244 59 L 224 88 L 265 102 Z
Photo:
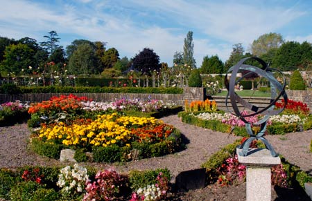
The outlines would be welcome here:
M 159 157 L 166 154 L 181 151 L 185 146 L 182 143 L 180 131 L 176 128 L 166 140 L 158 143 L 132 142 L 131 146 L 119 147 L 112 146 L 93 146 L 93 160 L 95 162 L 128 162 L 130 160 L 139 160 L 143 158 Z M 62 149 L 75 149 L 75 147 L 64 146 L 63 144 L 51 144 L 42 142 L 37 138 L 31 139 L 31 149 L 39 154 L 54 159 L 60 158 Z M 86 162 L 90 160 L 87 157 L 87 149 L 75 149 L 74 158 L 77 162 Z

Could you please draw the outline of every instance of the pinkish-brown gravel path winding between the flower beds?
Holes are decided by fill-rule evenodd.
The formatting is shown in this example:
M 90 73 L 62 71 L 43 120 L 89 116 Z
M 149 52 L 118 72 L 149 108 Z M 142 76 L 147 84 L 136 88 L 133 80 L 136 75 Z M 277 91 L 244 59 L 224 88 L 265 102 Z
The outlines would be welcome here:
M 100 169 L 113 168 L 120 172 L 128 172 L 132 169 L 144 170 L 167 167 L 173 176 L 171 182 L 174 182 L 178 173 L 200 168 L 200 165 L 213 153 L 226 144 L 240 138 L 227 133 L 184 124 L 177 115 L 163 117 L 162 120 L 181 131 L 189 141 L 187 149 L 164 157 L 114 164 L 92 163 L 91 165 Z M 26 165 L 52 166 L 70 164 L 69 162 L 61 163 L 58 160 L 42 157 L 30 151 L 27 145 L 30 135 L 31 131 L 28 129 L 27 124 L 0 127 L 0 168 L 14 169 Z M 301 133 L 288 133 L 286 135 L 268 135 L 266 138 L 275 147 L 275 150 L 284 155 L 289 162 L 300 166 L 302 170 L 312 175 L 312 153 L 309 151 L 312 130 Z M 230 200 L 245 200 L 244 188 L 244 185 L 240 185 L 225 189 L 219 188 L 221 189 L 219 190 L 214 186 L 207 186 L 205 189 L 178 195 L 178 198 L 172 198 L 172 200 L 229 200 L 229 198 Z M 242 195 L 239 195 L 237 191 L 241 191 Z M 207 193 L 209 193 L 209 199 L 207 199 Z M 275 198 L 277 198 L 277 193 L 272 193 L 272 200 Z

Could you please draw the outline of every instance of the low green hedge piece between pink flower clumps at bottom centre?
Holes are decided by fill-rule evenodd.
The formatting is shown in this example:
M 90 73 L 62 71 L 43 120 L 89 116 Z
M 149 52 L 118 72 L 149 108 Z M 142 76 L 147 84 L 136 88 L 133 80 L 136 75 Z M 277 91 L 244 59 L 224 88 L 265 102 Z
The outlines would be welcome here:
M 168 169 L 156 169 L 146 171 L 130 171 L 128 177 L 130 182 L 130 188 L 134 191 L 147 185 L 155 184 L 156 178 L 159 173 L 162 173 L 163 178 L 171 180 L 170 171 Z

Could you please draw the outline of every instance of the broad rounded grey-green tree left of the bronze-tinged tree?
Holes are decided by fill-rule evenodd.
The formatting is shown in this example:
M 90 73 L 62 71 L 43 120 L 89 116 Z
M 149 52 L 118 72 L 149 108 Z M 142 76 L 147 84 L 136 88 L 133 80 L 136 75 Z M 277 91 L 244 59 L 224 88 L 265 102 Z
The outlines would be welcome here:
M 89 44 L 80 44 L 69 59 L 69 73 L 89 75 L 98 73 L 97 58 Z

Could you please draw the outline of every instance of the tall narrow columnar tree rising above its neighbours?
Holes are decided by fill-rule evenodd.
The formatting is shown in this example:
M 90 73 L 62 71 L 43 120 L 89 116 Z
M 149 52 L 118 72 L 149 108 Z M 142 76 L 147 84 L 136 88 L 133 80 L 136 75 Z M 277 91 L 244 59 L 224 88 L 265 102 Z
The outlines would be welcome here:
M 196 61 L 193 57 L 193 54 L 194 54 L 193 32 L 189 31 L 187 33 L 187 37 L 184 39 L 183 62 L 184 64 L 187 64 L 192 68 L 196 68 Z

